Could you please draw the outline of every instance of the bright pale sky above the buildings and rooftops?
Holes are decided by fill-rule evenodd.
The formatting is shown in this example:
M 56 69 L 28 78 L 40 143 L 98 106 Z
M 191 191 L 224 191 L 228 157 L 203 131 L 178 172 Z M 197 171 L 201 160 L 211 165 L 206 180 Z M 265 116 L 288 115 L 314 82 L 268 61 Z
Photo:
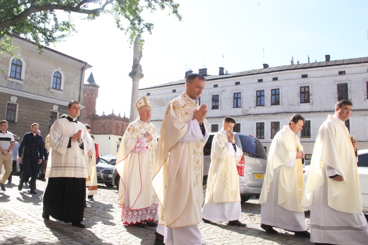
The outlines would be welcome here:
M 180 22 L 169 10 L 144 13 L 153 23 L 140 64 L 139 88 L 184 79 L 185 71 L 218 74 L 294 63 L 368 56 L 367 0 L 176 0 Z M 129 117 L 133 45 L 112 17 L 76 20 L 78 33 L 50 48 L 93 66 L 100 86 L 98 115 Z

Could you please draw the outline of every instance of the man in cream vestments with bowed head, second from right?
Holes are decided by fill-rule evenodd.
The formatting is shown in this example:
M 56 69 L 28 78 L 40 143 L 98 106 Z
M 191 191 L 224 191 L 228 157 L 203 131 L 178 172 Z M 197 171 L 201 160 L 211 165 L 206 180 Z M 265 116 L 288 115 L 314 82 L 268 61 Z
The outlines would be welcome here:
M 273 227 L 278 227 L 292 231 L 298 237 L 310 237 L 305 225 L 305 209 L 300 207 L 304 185 L 302 158 L 305 154 L 296 135 L 303 124 L 302 115 L 292 115 L 269 148 L 259 203 L 261 227 L 270 234 L 277 234 Z

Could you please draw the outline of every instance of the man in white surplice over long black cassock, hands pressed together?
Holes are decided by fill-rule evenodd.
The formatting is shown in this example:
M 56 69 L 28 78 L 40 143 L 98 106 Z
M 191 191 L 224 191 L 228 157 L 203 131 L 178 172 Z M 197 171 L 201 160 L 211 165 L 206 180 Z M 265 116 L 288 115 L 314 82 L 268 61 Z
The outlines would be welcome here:
M 48 163 L 42 217 L 49 220 L 51 216 L 84 228 L 87 177 L 84 157 L 93 142 L 83 123 L 77 121 L 79 101 L 71 101 L 68 111 L 67 118 L 56 120 L 50 128 L 51 162 Z

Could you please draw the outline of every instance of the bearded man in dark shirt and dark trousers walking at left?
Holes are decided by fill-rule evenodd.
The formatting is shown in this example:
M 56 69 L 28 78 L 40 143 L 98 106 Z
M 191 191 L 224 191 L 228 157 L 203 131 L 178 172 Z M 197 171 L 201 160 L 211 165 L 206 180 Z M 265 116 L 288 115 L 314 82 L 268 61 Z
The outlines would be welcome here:
M 38 124 L 32 123 L 32 131 L 26 133 L 23 136 L 22 143 L 18 150 L 18 162 L 22 161 L 22 151 L 23 152 L 23 172 L 21 175 L 21 180 L 19 182 L 18 190 L 22 191 L 23 183 L 26 177 L 30 174 L 31 179 L 29 181 L 29 188 L 31 194 L 37 194 L 34 189 L 36 188 L 36 177 L 38 165 L 42 163 L 44 154 L 44 143 L 42 136 L 37 134 Z

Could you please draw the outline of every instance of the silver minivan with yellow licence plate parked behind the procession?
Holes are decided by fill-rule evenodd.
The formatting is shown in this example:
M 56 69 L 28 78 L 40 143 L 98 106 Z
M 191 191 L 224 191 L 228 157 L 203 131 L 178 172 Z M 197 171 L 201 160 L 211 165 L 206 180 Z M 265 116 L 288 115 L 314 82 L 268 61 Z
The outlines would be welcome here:
M 250 134 L 234 133 L 235 142 L 243 151 L 240 163 L 244 163 L 244 176 L 239 176 L 241 201 L 249 200 L 251 196 L 259 196 L 262 189 L 264 174 L 266 172 L 267 155 L 259 139 Z M 214 133 L 203 148 L 203 188 L 206 191 L 207 177 L 211 163 L 211 146 Z

